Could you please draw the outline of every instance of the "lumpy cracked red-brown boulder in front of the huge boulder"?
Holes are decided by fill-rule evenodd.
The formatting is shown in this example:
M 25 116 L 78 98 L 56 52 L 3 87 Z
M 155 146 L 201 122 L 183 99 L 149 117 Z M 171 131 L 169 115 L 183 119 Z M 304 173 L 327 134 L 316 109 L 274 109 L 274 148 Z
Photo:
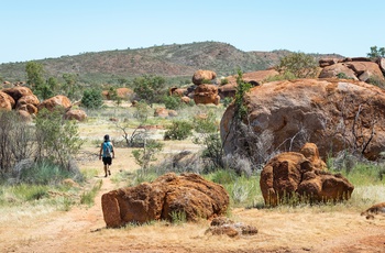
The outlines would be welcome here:
M 323 167 L 319 169 L 317 146 L 315 155 L 308 153 L 308 147 L 302 152 L 309 158 L 301 153 L 285 152 L 265 165 L 260 186 L 266 205 L 277 206 L 298 197 L 309 201 L 340 201 L 351 197 L 353 185 L 340 174 L 332 175 Z

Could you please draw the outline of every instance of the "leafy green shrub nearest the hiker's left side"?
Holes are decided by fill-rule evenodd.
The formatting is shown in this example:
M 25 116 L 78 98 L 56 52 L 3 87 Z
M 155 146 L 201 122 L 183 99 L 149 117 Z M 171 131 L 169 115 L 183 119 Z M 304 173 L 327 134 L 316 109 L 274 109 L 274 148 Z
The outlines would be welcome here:
M 63 112 L 43 109 L 36 120 L 37 161 L 51 161 L 62 168 L 72 170 L 73 156 L 78 153 L 82 141 L 76 121 L 63 119 Z

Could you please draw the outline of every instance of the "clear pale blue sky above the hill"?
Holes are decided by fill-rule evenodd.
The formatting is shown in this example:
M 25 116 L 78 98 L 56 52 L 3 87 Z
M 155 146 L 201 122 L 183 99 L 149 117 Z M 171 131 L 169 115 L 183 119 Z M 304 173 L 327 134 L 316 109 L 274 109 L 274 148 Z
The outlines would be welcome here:
M 366 56 L 384 0 L 0 0 L 0 63 L 202 41 Z

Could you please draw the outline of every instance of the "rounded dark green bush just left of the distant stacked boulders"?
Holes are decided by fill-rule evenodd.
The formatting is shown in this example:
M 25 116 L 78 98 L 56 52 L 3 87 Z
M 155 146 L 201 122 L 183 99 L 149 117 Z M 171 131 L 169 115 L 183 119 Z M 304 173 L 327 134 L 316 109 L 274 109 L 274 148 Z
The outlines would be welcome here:
M 134 91 L 140 100 L 144 100 L 151 107 L 158 102 L 165 94 L 166 79 L 160 76 L 142 76 L 133 80 Z

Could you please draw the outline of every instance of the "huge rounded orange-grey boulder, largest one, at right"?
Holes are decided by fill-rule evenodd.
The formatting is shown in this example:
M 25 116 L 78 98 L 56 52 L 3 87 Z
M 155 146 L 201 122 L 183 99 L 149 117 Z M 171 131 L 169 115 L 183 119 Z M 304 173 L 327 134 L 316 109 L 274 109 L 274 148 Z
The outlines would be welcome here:
M 272 145 L 264 151 L 298 151 L 304 140 L 316 143 L 319 154 L 356 148 L 370 160 L 385 151 L 385 90 L 363 81 L 297 79 L 263 84 L 244 98 L 255 138 L 266 131 Z M 220 131 L 224 152 L 250 146 L 253 139 L 233 129 L 234 105 L 223 113 Z

